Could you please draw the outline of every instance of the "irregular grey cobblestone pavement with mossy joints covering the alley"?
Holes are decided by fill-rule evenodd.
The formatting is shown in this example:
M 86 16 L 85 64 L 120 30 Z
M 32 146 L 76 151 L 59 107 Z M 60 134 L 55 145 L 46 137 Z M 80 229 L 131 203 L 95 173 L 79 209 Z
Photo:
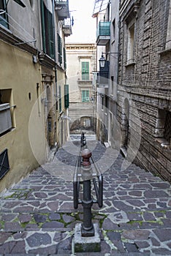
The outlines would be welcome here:
M 75 224 L 83 222 L 72 196 L 78 144 L 67 142 L 53 162 L 0 194 L 0 255 L 171 255 L 170 184 L 135 165 L 124 170 L 121 154 L 93 140 L 104 177 L 103 207 L 92 210 L 101 252 L 74 252 Z

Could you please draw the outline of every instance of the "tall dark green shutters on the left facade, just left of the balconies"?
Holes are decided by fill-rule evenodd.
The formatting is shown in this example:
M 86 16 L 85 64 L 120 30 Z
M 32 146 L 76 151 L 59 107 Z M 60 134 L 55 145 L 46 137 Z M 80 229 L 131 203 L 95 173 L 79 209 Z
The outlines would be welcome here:
M 53 14 L 47 10 L 44 2 L 41 1 L 42 14 L 42 44 L 43 51 L 52 59 L 54 56 L 54 29 L 53 29 Z

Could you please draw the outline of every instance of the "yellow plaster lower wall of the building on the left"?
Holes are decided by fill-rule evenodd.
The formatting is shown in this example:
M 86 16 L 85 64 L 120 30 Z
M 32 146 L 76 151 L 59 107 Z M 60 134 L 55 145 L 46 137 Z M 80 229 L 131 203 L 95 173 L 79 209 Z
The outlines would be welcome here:
M 0 41 L 0 56 L 0 89 L 12 89 L 16 105 L 16 127 L 0 137 L 0 152 L 8 148 L 10 166 L 7 175 L 0 180 L 2 191 L 44 162 L 46 153 L 41 100 L 37 104 L 37 85 L 39 94 L 42 92 L 39 63 L 33 64 L 31 54 L 3 41 Z

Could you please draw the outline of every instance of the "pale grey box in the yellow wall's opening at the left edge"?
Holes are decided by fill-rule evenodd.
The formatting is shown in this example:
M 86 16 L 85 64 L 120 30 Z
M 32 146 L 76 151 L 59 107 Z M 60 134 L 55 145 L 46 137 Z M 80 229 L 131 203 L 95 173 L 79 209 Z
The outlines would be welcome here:
M 9 103 L 0 105 L 0 135 L 12 128 Z

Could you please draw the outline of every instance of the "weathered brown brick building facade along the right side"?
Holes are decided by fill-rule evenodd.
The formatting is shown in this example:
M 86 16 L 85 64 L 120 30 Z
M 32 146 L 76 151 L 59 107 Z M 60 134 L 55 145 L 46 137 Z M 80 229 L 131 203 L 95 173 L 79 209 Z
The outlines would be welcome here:
M 120 1 L 117 117 L 126 157 L 171 181 L 171 1 Z

